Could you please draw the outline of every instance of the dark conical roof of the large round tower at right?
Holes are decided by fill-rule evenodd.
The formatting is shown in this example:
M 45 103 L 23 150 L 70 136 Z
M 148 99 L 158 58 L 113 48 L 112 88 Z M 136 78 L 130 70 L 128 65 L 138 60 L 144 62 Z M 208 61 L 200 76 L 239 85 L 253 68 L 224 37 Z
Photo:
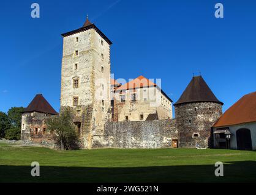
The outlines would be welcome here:
M 186 90 L 181 95 L 181 98 L 179 98 L 174 105 L 191 102 L 216 102 L 223 105 L 223 103 L 216 98 L 213 91 L 211 91 L 201 76 L 192 78 L 189 85 L 187 85 Z

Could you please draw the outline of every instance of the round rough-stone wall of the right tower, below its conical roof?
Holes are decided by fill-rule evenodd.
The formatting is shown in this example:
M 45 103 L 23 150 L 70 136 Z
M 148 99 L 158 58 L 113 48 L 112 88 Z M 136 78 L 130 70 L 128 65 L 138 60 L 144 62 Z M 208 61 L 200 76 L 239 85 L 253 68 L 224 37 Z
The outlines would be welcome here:
M 213 143 L 211 127 L 222 115 L 222 105 L 216 102 L 192 102 L 175 106 L 176 127 L 180 147 L 203 147 Z

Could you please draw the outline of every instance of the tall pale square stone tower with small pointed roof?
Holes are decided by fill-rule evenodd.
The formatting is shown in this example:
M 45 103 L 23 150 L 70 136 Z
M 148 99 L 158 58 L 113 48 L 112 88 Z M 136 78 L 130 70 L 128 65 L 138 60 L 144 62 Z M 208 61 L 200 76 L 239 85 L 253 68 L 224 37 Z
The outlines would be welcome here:
M 62 34 L 61 110 L 73 112 L 83 148 L 97 147 L 110 118 L 110 40 L 88 18 Z

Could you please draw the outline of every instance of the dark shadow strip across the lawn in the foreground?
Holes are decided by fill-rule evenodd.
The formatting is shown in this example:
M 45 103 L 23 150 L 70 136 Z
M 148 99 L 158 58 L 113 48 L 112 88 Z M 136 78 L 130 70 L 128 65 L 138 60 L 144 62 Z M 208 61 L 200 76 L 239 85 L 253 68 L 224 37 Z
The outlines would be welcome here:
M 256 182 L 256 161 L 224 164 L 224 177 L 214 165 L 93 168 L 40 166 L 32 177 L 30 166 L 0 166 L 0 182 Z

